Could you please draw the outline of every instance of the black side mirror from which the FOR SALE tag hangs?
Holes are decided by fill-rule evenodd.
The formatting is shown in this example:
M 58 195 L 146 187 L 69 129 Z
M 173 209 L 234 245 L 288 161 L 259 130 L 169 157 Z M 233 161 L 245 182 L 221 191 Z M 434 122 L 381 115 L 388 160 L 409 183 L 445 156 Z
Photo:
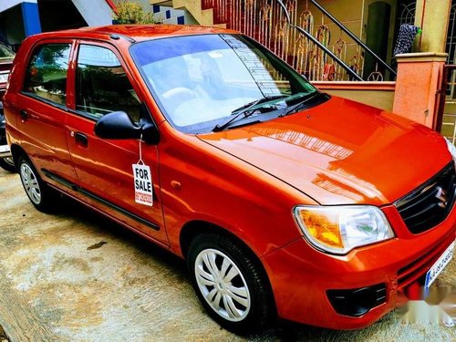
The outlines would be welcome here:
M 141 128 L 124 111 L 113 111 L 98 119 L 95 134 L 103 139 L 140 139 Z

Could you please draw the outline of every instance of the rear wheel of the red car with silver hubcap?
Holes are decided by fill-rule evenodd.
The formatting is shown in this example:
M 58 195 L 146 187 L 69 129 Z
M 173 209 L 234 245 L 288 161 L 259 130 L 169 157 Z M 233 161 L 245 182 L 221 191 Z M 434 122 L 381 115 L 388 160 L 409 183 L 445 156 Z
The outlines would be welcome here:
M 22 186 L 30 202 L 40 212 L 49 212 L 56 200 L 56 193 L 41 179 L 35 166 L 26 157 L 20 156 L 17 161 Z

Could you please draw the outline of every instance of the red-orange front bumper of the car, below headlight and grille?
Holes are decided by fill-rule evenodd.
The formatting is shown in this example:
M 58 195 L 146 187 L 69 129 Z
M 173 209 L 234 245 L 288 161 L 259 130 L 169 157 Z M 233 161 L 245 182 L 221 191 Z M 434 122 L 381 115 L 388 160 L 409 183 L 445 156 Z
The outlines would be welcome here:
M 389 241 L 330 255 L 316 251 L 303 238 L 264 256 L 278 316 L 312 326 L 354 329 L 406 303 L 409 289 L 424 284 L 426 272 L 455 240 L 456 210 L 430 231 L 411 234 L 394 208 L 383 209 L 397 235 Z M 362 315 L 338 314 L 328 298 L 328 291 L 378 285 L 384 285 L 386 298 Z

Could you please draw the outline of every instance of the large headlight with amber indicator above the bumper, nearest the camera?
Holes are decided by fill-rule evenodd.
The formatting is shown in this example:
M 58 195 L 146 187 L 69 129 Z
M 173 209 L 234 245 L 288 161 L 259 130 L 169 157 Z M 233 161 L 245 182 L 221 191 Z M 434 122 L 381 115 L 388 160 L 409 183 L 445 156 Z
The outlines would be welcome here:
M 374 206 L 296 206 L 294 214 L 307 240 L 333 254 L 394 237 L 387 218 Z

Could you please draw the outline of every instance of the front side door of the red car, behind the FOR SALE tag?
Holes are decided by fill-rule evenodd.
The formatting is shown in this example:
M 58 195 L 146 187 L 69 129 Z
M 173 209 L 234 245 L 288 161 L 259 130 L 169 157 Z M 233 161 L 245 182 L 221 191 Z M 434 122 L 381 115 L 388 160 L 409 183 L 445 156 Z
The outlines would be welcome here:
M 109 44 L 78 42 L 74 103 L 67 117 L 67 144 L 80 191 L 87 201 L 121 223 L 168 244 L 161 212 L 158 151 L 142 143 L 142 161 L 150 166 L 152 206 L 135 202 L 132 165 L 140 160 L 139 140 L 104 140 L 94 134 L 99 118 L 124 111 L 139 123 L 141 98 L 119 52 Z

